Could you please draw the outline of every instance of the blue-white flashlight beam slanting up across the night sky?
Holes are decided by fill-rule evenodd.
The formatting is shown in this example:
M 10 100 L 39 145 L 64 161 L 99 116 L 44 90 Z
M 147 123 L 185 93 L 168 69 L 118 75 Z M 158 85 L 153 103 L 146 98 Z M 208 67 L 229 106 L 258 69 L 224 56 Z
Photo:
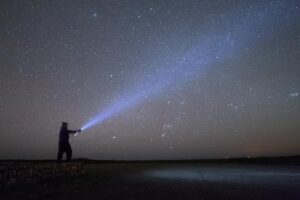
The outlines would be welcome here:
M 244 20 L 240 20 L 242 23 L 232 23 L 234 25 L 230 29 L 231 32 L 210 33 L 209 37 L 200 39 L 200 42 L 190 47 L 183 56 L 172 57 L 173 59 L 168 60 L 168 64 L 164 68 L 156 68 L 157 70 L 149 73 L 138 84 L 139 87 L 132 87 L 131 93 L 117 99 L 110 107 L 85 123 L 81 130 L 101 124 L 116 114 L 138 105 L 148 97 L 159 94 L 170 85 L 183 84 L 186 80 L 191 79 L 194 74 L 205 70 L 209 65 L 237 55 L 239 48 L 249 42 L 248 40 L 251 40 L 251 43 L 255 42 L 255 30 L 265 28 L 266 22 L 272 18 L 268 11 L 270 10 L 263 10 L 262 15 L 259 15 L 260 12 L 254 12 Z M 271 12 L 271 14 L 276 15 L 274 12 Z M 258 19 L 257 15 L 261 18 Z

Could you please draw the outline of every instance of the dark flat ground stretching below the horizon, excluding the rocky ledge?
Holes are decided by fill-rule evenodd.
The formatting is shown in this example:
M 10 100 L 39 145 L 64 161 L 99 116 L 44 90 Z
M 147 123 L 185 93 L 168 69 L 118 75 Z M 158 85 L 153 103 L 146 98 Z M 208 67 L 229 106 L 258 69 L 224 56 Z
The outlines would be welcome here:
M 0 199 L 300 199 L 299 165 L 85 164 L 77 177 L 1 189 Z

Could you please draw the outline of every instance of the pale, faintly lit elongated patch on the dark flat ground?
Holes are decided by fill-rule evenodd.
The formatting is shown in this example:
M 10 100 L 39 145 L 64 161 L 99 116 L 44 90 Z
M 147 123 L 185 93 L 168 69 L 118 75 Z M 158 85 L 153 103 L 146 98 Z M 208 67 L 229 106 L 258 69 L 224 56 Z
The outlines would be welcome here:
M 178 181 L 213 181 L 236 183 L 285 183 L 300 185 L 299 168 L 255 167 L 178 167 L 147 171 L 146 177 Z

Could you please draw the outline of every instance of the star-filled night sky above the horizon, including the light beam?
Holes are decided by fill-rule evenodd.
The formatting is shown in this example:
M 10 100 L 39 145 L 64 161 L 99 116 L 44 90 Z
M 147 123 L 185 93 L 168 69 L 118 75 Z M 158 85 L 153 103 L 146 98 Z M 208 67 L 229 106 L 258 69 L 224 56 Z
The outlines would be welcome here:
M 300 154 L 300 1 L 0 2 L 0 159 Z

